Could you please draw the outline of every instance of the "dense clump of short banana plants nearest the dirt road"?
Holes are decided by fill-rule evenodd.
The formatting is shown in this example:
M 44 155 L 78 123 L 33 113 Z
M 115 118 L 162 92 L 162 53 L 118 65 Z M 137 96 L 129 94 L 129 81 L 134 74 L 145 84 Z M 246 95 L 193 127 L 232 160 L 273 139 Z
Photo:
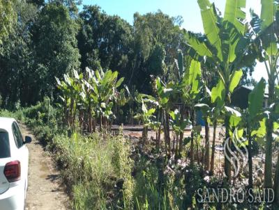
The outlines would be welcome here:
M 74 77 L 64 74 L 64 81 L 56 78 L 57 87 L 61 90 L 66 124 L 75 125 L 77 107 L 79 109 L 80 126 L 84 122 L 89 132 L 95 131 L 97 118 L 107 128 L 107 122 L 115 118 L 113 106 L 123 106 L 126 103 L 125 90 L 117 91 L 123 78 L 117 79 L 118 72 L 102 69 L 92 71 L 86 68 L 85 76 L 74 71 Z M 85 120 L 86 119 L 86 120 Z

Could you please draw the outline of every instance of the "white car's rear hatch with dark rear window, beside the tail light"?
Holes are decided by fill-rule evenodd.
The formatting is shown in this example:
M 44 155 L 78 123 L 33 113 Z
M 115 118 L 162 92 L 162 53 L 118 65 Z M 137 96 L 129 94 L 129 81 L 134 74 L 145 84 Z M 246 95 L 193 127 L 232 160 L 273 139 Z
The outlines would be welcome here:
M 6 163 L 10 161 L 10 142 L 8 132 L 0 130 L 0 194 L 8 191 L 10 183 L 4 175 Z

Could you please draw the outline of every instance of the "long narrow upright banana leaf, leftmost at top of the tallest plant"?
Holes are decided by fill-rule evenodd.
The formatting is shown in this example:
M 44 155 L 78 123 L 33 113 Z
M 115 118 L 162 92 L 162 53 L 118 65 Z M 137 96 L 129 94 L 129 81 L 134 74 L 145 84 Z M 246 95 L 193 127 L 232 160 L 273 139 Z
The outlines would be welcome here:
M 219 37 L 220 29 L 218 27 L 218 17 L 215 6 L 213 3 L 211 4 L 209 0 L 197 0 L 197 3 L 199 3 L 199 8 L 202 14 L 204 33 L 209 39 L 209 42 L 211 42 L 211 45 L 217 49 L 218 58 L 223 60 L 222 42 Z

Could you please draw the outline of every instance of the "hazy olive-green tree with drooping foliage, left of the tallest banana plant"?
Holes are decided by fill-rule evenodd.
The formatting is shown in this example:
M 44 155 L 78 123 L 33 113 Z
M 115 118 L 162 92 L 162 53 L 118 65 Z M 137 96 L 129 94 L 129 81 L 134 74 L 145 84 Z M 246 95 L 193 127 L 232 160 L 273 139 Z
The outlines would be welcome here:
M 175 71 L 177 50 L 183 50 L 183 36 L 176 19 L 160 10 L 146 15 L 135 13 L 133 29 L 134 63 L 127 77 L 128 85 L 151 94 L 153 78 L 160 76 L 164 82 L 170 81 L 168 77 Z

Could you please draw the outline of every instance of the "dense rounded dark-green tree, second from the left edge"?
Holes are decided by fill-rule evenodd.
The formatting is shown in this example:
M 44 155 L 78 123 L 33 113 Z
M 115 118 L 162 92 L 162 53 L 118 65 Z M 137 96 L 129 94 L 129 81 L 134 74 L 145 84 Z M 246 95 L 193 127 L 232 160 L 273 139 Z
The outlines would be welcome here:
M 63 5 L 48 3 L 40 12 L 32 31 L 35 68 L 40 83 L 38 99 L 43 95 L 54 95 L 55 76 L 61 79 L 63 74 L 80 67 L 77 30 L 75 19 Z

